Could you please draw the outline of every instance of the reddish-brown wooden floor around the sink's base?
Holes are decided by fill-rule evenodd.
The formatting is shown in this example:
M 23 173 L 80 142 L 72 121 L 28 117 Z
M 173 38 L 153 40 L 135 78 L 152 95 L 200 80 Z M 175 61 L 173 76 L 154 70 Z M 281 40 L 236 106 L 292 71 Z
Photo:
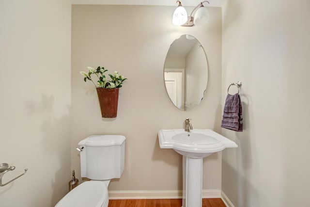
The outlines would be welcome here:
M 181 207 L 182 199 L 109 200 L 108 207 Z M 220 198 L 203 198 L 202 207 L 226 207 Z

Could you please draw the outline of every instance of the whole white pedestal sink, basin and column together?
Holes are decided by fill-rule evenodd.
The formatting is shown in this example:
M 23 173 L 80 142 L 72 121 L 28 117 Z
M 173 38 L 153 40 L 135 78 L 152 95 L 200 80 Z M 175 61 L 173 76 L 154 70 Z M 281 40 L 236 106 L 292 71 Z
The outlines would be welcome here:
M 159 130 L 160 148 L 183 155 L 182 207 L 202 207 L 202 159 L 214 152 L 238 145 L 210 129 Z

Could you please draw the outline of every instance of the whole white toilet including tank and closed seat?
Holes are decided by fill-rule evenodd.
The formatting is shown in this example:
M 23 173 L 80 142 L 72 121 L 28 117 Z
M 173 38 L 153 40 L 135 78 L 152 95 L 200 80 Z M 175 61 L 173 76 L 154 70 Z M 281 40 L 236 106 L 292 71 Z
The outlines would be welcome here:
M 122 135 L 92 135 L 80 141 L 81 177 L 91 181 L 68 192 L 55 207 L 108 207 L 109 182 L 124 171 L 125 139 Z

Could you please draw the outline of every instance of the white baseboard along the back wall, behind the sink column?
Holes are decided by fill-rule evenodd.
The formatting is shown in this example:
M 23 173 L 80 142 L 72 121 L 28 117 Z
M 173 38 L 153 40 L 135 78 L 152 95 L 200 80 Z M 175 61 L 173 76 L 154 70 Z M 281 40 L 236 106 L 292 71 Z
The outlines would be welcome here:
M 109 199 L 174 199 L 183 191 L 109 191 Z M 220 190 L 202 190 L 202 198 L 220 198 Z

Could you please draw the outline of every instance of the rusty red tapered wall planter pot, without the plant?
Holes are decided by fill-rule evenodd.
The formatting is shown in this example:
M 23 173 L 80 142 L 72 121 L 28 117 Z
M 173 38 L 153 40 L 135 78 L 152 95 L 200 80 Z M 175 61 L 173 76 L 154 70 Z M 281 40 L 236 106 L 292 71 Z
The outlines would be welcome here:
M 96 88 L 103 118 L 117 116 L 119 88 Z

